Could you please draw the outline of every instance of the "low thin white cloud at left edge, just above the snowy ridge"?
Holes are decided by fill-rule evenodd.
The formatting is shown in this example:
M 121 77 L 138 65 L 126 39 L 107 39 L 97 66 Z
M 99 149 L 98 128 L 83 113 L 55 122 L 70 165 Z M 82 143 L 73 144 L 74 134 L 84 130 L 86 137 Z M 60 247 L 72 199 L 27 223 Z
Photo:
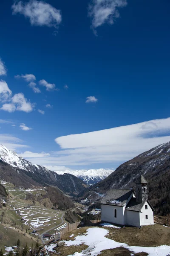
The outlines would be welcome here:
M 23 143 L 23 141 L 17 137 L 10 134 L 0 134 L 0 144 L 3 144 L 10 150 L 17 151 L 18 148 L 29 148 L 28 145 L 21 143 Z

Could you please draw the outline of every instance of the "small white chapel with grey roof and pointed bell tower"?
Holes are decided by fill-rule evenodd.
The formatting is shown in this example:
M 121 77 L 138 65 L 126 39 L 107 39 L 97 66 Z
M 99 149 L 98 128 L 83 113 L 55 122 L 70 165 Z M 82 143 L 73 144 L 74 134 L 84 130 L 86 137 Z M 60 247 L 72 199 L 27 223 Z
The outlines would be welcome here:
M 142 175 L 136 180 L 136 193 L 133 189 L 110 189 L 101 205 L 102 221 L 133 227 L 153 225 L 153 207 Z

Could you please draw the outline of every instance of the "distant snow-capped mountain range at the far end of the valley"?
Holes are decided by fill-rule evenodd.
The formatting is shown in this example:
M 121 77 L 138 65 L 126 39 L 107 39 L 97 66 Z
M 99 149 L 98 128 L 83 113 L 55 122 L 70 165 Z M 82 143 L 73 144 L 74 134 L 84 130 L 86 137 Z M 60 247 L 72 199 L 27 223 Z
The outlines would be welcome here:
M 63 175 L 64 173 L 72 174 L 79 179 L 83 180 L 89 186 L 94 185 L 95 183 L 104 180 L 108 177 L 113 170 L 110 169 L 90 169 L 90 170 L 65 170 L 65 171 L 56 171 L 58 174 Z

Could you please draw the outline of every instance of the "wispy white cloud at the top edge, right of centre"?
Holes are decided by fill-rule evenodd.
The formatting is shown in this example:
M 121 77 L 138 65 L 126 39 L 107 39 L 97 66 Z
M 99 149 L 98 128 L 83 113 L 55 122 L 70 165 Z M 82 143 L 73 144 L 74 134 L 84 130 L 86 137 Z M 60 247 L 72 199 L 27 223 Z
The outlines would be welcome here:
M 91 27 L 95 34 L 95 29 L 104 23 L 113 24 L 114 20 L 119 17 L 118 8 L 126 5 L 126 0 L 92 0 L 89 4 L 88 15 L 91 17 Z

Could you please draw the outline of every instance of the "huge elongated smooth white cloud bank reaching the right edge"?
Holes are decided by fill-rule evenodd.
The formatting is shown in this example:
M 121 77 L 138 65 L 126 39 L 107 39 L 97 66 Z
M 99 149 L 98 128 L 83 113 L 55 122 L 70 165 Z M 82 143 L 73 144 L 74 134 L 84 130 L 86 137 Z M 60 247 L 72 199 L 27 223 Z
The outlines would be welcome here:
M 155 125 L 150 126 L 150 122 Z M 43 164 L 75 166 L 124 162 L 170 141 L 170 118 L 150 122 L 58 137 L 55 141 L 62 150 L 55 152 Z M 145 130 L 143 125 L 149 128 Z

